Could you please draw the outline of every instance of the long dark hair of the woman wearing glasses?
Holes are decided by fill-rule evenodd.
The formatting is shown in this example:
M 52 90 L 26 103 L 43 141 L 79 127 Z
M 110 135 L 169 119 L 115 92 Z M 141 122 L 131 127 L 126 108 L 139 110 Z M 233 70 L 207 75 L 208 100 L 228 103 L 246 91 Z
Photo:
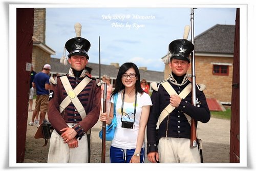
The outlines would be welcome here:
M 144 93 L 144 91 L 142 90 L 142 88 L 140 86 L 140 71 L 139 71 L 138 67 L 133 62 L 126 62 L 126 63 L 123 63 L 123 65 L 119 68 L 119 71 L 118 71 L 118 74 L 116 77 L 115 89 L 112 92 L 111 96 L 125 88 L 125 86 L 122 83 L 122 75 L 130 68 L 133 68 L 135 70 L 135 74 L 137 77 L 137 80 L 135 83 L 135 91 L 140 94 Z

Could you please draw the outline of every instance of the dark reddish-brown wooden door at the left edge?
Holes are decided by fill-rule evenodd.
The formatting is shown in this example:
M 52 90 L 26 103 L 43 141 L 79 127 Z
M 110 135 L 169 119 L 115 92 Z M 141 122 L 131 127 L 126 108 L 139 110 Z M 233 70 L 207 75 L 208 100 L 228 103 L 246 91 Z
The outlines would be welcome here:
M 16 162 L 24 162 L 28 120 L 34 8 L 16 9 Z M 12 79 L 12 78 L 10 78 Z M 15 91 L 15 90 L 13 90 Z M 15 136 L 15 135 L 10 135 Z

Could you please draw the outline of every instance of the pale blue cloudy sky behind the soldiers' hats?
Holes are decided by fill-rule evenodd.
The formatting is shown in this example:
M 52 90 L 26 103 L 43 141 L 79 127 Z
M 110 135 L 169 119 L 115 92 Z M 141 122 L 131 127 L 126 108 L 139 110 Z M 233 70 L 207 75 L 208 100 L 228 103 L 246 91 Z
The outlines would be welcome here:
M 216 24 L 235 25 L 235 19 L 236 8 L 197 8 L 195 36 Z M 169 43 L 183 38 L 184 27 L 190 26 L 190 8 L 47 8 L 46 45 L 56 52 L 52 57 L 63 55 L 66 41 L 75 37 L 76 23 L 82 25 L 81 37 L 91 42 L 89 62 L 99 62 L 100 36 L 102 64 L 131 61 L 163 71 L 161 58 Z

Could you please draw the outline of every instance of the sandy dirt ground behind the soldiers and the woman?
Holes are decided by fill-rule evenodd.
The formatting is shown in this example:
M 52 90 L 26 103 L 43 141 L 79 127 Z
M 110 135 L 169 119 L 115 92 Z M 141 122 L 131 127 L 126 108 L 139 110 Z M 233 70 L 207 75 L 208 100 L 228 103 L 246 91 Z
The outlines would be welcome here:
M 32 112 L 29 112 L 28 123 Z M 92 129 L 91 162 L 101 163 L 101 139 L 98 136 L 102 123 L 98 121 Z M 36 126 L 27 126 L 25 162 L 46 163 L 49 143 L 42 147 L 44 139 L 35 139 Z M 211 118 L 206 124 L 198 124 L 198 135 L 203 141 L 204 163 L 229 163 L 230 120 Z M 106 159 L 109 162 L 110 142 L 106 142 Z M 146 162 L 148 162 L 146 160 Z

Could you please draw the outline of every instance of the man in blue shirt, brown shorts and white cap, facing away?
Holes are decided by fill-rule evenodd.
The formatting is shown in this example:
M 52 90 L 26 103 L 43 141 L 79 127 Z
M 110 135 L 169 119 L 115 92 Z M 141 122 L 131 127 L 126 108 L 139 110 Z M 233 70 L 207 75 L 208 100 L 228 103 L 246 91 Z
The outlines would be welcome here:
M 49 89 L 50 89 L 50 82 L 49 82 L 49 74 L 51 71 L 51 66 L 49 64 L 44 65 L 42 67 L 42 71 L 37 73 L 34 77 L 32 82 L 33 88 L 36 89 L 36 101 L 35 101 L 35 110 L 32 114 L 32 120 L 29 122 L 29 125 L 39 125 L 45 120 L 46 113 L 48 111 L 48 98 L 49 98 Z M 39 122 L 34 123 L 36 115 L 39 115 Z

